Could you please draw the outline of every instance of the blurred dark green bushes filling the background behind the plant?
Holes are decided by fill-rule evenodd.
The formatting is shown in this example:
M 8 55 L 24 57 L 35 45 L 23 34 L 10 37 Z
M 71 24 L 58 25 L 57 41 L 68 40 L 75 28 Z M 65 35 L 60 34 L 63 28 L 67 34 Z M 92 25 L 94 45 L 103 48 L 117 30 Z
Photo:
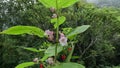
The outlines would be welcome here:
M 51 27 L 53 26 L 49 23 L 51 12 L 44 6 L 35 4 L 32 0 L 19 0 L 15 3 L 17 5 L 12 0 L 6 3 L 1 2 L 0 31 L 14 25 L 31 25 L 44 30 L 52 29 Z M 7 8 L 9 8 L 9 12 L 2 12 L 2 10 Z M 119 65 L 120 21 L 116 19 L 120 12 L 118 9 L 96 8 L 91 4 L 77 3 L 61 11 L 61 15 L 66 17 L 66 21 L 60 27 L 75 28 L 80 25 L 91 25 L 89 30 L 77 36 L 78 41 L 75 43 L 72 61 L 82 63 L 86 68 L 110 68 Z M 70 30 L 71 28 L 65 30 L 64 33 L 68 34 Z M 42 43 L 46 41 L 45 39 L 29 35 L 0 35 L 0 38 L 0 68 L 14 68 L 17 64 L 31 61 L 31 58 L 39 55 L 38 53 L 34 54 L 27 50 L 16 48 L 16 46 L 33 47 L 36 49 L 39 47 L 44 49 L 49 46 L 46 43 Z M 89 49 L 86 50 L 88 47 Z M 80 58 L 79 55 L 84 51 L 85 54 Z M 77 57 L 74 58 L 76 55 Z

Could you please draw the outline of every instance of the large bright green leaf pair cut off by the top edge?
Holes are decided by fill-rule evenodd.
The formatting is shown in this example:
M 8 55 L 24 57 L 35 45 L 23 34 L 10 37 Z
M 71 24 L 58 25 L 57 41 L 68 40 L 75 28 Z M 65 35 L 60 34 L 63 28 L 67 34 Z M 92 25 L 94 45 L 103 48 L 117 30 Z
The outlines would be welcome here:
M 39 1 L 47 8 L 54 7 L 61 9 L 61 8 L 69 7 L 79 0 L 57 0 L 57 2 L 56 0 L 39 0 Z M 56 3 L 58 7 L 56 6 Z

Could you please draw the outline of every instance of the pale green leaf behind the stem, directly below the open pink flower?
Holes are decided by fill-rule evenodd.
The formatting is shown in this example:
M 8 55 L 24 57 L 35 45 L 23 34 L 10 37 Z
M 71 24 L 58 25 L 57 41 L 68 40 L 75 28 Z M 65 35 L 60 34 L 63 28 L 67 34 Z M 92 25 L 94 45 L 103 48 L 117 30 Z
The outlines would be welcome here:
M 48 56 L 55 56 L 55 48 L 56 46 L 49 46 L 48 49 L 45 51 L 45 55 Z M 63 50 L 63 46 L 57 46 L 57 53 Z

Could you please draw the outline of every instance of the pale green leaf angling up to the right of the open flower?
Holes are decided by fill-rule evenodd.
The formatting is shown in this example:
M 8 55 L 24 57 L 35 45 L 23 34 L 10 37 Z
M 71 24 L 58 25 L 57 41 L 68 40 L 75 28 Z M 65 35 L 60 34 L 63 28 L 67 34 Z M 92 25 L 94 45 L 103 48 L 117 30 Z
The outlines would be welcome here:
M 83 33 L 84 31 L 86 31 L 88 28 L 90 27 L 90 25 L 82 25 L 82 26 L 78 26 L 75 29 L 73 29 L 68 35 L 67 38 L 70 38 L 72 36 L 75 36 L 77 34 Z

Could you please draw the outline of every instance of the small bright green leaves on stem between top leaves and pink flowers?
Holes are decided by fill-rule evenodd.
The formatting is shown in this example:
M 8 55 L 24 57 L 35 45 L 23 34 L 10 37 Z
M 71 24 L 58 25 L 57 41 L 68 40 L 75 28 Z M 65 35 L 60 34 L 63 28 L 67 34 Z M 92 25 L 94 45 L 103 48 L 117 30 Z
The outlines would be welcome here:
M 58 26 L 60 26 L 61 24 L 63 24 L 66 20 L 66 17 L 61 16 L 58 18 L 58 23 L 57 23 L 57 18 L 51 19 L 51 23 L 54 24 L 54 28 L 57 28 Z

